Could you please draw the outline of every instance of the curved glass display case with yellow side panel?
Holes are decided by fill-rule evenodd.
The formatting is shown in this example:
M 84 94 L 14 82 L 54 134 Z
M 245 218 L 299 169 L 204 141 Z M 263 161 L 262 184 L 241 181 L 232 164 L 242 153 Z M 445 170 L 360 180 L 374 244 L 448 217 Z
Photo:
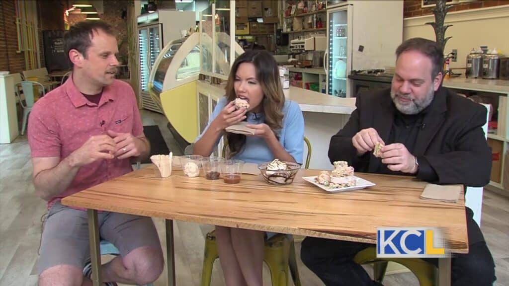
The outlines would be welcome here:
M 157 56 L 148 82 L 149 94 L 171 124 L 171 131 L 187 142 L 194 140 L 200 128 L 196 92 L 200 57 L 204 53 L 200 38 L 202 44 L 212 47 L 212 39 L 201 34 L 168 43 Z M 222 40 L 230 42 L 229 37 Z M 236 44 L 235 52 L 243 53 L 242 47 Z M 230 65 L 223 58 L 216 61 L 221 73 L 228 74 Z

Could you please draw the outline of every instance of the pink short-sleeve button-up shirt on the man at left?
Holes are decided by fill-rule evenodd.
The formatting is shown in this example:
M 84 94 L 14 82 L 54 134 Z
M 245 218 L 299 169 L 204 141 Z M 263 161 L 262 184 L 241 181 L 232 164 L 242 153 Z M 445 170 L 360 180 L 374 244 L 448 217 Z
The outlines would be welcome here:
M 107 130 L 143 134 L 142 120 L 131 86 L 121 80 L 103 89 L 99 104 L 88 101 L 70 77 L 39 99 L 30 112 L 28 139 L 31 156 L 60 157 L 62 161 L 91 136 Z M 79 168 L 69 187 L 48 201 L 48 208 L 63 197 L 132 171 L 129 159 L 97 160 Z

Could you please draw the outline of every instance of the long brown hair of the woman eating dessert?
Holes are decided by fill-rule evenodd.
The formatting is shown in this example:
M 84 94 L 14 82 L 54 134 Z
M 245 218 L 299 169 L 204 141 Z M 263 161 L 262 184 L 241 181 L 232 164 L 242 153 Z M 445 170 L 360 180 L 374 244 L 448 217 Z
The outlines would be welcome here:
M 254 50 L 241 54 L 233 63 L 226 85 L 227 104 L 235 100 L 234 82 L 237 69 L 242 63 L 251 63 L 256 68 L 257 80 L 263 91 L 262 112 L 265 115 L 265 124 L 279 137 L 282 127 L 283 107 L 285 106 L 285 95 L 279 81 L 279 70 L 274 57 L 267 51 Z M 226 135 L 230 156 L 240 153 L 246 143 L 246 135 L 227 133 Z

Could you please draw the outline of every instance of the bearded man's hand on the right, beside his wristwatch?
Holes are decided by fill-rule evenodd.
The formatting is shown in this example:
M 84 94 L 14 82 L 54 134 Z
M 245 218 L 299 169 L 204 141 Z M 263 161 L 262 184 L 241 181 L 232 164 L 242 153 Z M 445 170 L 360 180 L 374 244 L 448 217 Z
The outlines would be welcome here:
M 387 164 L 391 171 L 415 174 L 418 166 L 415 156 L 408 152 L 405 145 L 401 143 L 389 144 L 381 148 L 382 163 Z

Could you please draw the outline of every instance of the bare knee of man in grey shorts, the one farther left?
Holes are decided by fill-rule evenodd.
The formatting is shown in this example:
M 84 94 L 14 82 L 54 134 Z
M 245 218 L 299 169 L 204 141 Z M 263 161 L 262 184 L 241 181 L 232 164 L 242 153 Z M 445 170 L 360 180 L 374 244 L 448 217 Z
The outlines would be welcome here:
M 83 273 L 71 265 L 57 265 L 50 267 L 39 275 L 39 286 L 81 286 Z

